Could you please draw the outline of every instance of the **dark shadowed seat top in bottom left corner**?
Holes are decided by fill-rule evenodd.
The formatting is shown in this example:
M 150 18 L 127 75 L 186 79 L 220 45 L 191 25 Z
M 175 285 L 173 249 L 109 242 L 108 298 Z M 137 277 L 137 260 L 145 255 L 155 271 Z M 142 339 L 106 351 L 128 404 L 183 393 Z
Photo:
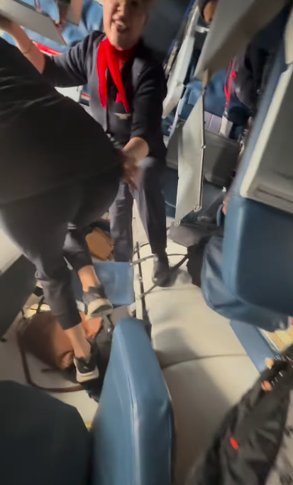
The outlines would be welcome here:
M 16 382 L 0 382 L 0 483 L 86 485 L 89 433 L 77 409 Z

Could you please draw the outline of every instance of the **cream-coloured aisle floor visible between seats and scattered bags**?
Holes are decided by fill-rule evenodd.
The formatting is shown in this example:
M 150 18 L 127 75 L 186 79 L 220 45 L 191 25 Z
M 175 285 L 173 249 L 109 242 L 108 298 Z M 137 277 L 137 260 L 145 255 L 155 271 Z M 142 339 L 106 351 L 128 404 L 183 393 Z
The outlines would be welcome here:
M 140 258 L 150 256 L 150 246 L 138 218 L 133 219 L 134 240 L 143 245 Z M 167 252 L 174 266 L 186 248 L 168 241 Z M 141 264 L 143 286 L 152 286 L 153 260 Z M 140 281 L 135 267 L 134 286 L 138 318 L 141 316 Z M 200 289 L 192 285 L 186 264 L 179 270 L 174 286 L 157 288 L 145 299 L 153 325 L 153 347 L 170 389 L 177 428 L 176 476 L 182 483 L 189 467 L 208 445 L 212 433 L 228 408 L 257 377 L 258 372 L 231 330 L 228 320 L 211 311 Z M 21 355 L 16 342 L 18 321 L 0 342 L 0 379 L 25 384 Z M 57 374 L 44 373 L 45 365 L 29 357 L 34 381 L 41 386 L 67 386 Z M 90 423 L 97 404 L 84 391 L 55 394 L 76 406 L 85 423 Z

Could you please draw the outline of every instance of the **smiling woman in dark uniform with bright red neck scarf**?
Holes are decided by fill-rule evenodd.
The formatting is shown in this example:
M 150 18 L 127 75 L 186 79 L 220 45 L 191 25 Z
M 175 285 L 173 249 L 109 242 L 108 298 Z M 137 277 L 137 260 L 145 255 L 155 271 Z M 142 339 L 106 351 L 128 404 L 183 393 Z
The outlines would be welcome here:
M 16 24 L 2 28 L 55 87 L 89 84 L 94 118 L 140 167 L 138 188 L 121 182 L 110 209 L 114 259 L 128 262 L 133 257 L 134 198 L 154 255 L 154 283 L 164 286 L 170 276 L 160 183 L 166 157 L 161 118 L 167 86 L 162 67 L 141 40 L 152 3 L 104 0 L 105 34 L 95 31 L 65 54 L 52 58 L 44 56 Z M 108 163 L 106 159 L 104 163 Z

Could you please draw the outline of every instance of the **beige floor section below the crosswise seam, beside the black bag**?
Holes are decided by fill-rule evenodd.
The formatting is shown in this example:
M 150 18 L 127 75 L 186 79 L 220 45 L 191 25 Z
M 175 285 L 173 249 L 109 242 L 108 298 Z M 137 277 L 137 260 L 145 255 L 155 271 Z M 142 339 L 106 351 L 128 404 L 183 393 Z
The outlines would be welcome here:
M 227 411 L 258 378 L 258 371 L 249 357 L 231 355 L 182 362 L 165 369 L 164 375 L 177 430 L 175 483 L 181 485 Z

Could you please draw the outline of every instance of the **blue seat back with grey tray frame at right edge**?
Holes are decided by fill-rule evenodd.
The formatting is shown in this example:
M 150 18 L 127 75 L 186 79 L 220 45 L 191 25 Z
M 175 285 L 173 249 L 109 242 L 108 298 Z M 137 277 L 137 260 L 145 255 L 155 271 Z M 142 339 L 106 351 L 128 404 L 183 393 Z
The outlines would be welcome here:
M 232 293 L 244 301 L 293 315 L 293 215 L 240 195 L 284 67 L 284 54 L 280 51 L 233 184 L 225 223 L 223 278 Z

